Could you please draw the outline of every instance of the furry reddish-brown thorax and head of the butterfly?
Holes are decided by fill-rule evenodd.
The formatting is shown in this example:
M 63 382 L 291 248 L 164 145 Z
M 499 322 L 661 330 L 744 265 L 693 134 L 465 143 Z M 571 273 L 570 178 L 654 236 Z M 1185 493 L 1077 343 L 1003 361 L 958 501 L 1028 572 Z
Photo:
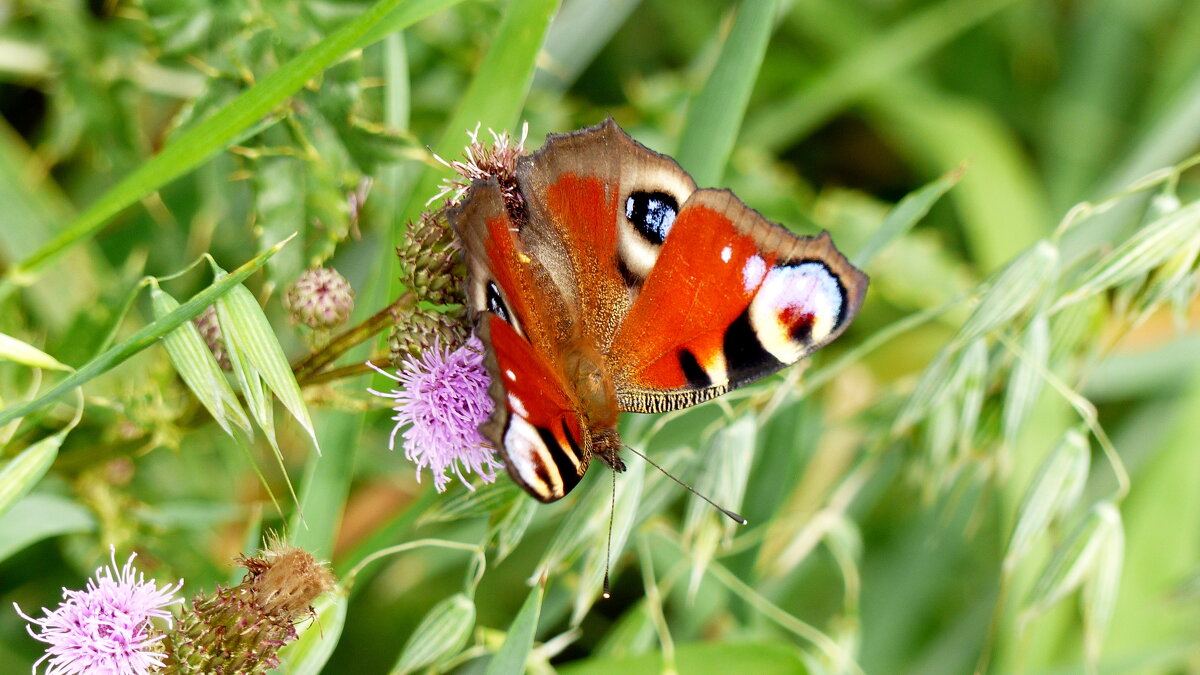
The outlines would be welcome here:
M 578 406 L 586 453 L 599 456 L 616 471 L 624 470 L 617 434 L 617 393 L 604 356 L 581 339 L 563 352 L 562 363 L 566 384 Z

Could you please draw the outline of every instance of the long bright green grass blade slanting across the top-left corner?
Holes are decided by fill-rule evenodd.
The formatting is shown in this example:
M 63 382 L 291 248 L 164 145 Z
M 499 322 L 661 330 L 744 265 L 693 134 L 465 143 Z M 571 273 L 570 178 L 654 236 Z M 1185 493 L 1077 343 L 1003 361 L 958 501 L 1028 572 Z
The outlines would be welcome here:
M 323 70 L 347 53 L 382 40 L 391 31 L 442 11 L 458 0 L 379 0 L 340 30 L 305 49 L 280 70 L 263 78 L 216 114 L 197 124 L 152 160 L 104 192 L 86 210 L 36 252 L 13 265 L 0 283 L 0 299 L 25 286 L 47 264 L 80 241 L 90 239 L 110 217 L 142 197 L 184 175 L 224 149 Z

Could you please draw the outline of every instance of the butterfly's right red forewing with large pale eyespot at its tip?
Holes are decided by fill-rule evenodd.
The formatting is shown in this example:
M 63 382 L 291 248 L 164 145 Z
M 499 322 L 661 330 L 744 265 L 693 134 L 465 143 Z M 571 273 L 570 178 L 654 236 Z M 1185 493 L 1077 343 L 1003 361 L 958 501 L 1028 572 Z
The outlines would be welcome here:
M 695 405 L 836 338 L 866 277 L 827 234 L 798 237 L 725 190 L 683 205 L 610 353 L 623 410 Z

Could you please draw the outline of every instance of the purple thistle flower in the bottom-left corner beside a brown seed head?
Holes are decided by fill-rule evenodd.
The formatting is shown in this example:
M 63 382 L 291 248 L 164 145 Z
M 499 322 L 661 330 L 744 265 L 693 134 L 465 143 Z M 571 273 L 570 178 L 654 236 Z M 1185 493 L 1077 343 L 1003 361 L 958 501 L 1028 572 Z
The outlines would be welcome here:
M 112 566 L 97 568 L 85 591 L 62 589 L 66 599 L 53 611 L 43 607 L 42 619 L 28 616 L 13 603 L 30 623 L 29 634 L 49 645 L 34 664 L 35 674 L 47 659 L 46 675 L 148 675 L 162 667 L 164 657 L 156 644 L 163 635 L 152 634 L 150 619 L 170 625 L 170 611 L 164 608 L 182 602 L 174 596 L 184 581 L 162 589 L 146 581 L 133 569 L 137 554 L 118 572 L 116 551 L 109 550 Z M 35 625 L 40 633 L 34 632 Z

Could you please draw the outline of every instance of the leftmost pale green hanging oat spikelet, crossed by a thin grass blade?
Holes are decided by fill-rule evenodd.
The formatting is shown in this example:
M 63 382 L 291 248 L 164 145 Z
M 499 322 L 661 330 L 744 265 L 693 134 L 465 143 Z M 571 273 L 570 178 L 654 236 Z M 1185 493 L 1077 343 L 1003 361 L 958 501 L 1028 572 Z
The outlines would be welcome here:
M 150 303 L 154 307 L 155 318 L 162 318 L 179 309 L 179 303 L 157 286 L 150 288 Z M 253 436 L 250 418 L 246 411 L 241 410 L 238 395 L 233 393 L 233 387 L 221 371 L 212 351 L 204 344 L 204 338 L 191 321 L 185 321 L 179 328 L 172 330 L 162 339 L 167 356 L 170 357 L 175 371 L 184 378 L 187 388 L 196 394 L 200 405 L 209 411 L 217 424 L 226 434 L 233 436 L 229 428 L 229 418 L 239 429 L 248 436 Z M 226 414 L 228 412 L 228 416 Z

